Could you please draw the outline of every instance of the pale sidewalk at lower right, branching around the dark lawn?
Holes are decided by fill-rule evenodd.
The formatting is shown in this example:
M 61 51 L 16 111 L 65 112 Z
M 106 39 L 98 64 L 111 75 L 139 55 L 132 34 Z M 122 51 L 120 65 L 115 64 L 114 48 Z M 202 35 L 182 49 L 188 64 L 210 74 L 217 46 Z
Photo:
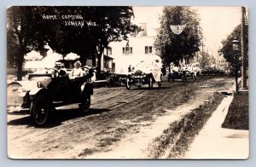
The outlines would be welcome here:
M 233 100 L 224 97 L 212 117 L 195 137 L 185 158 L 189 159 L 246 159 L 249 158 L 249 131 L 221 128 Z

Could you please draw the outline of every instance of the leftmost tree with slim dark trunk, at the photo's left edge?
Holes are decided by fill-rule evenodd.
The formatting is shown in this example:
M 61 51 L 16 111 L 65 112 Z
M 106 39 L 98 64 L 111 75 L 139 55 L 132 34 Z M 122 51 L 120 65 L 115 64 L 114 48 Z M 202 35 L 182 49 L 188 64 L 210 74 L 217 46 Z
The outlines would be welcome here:
M 22 78 L 24 55 L 31 49 L 36 27 L 35 13 L 31 7 L 10 7 L 7 10 L 7 54 L 8 62 L 17 66 L 17 79 Z M 13 63 L 12 60 L 15 60 Z

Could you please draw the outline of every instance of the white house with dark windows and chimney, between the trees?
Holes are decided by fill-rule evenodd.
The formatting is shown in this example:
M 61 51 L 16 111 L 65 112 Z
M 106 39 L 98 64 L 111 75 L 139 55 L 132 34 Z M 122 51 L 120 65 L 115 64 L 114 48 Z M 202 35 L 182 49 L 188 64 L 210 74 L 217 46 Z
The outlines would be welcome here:
M 137 36 L 131 35 L 128 41 L 109 43 L 108 56 L 113 58 L 113 72 L 127 73 L 128 66 L 136 66 L 142 60 L 155 55 L 155 36 L 147 35 L 147 23 L 140 24 L 143 31 Z

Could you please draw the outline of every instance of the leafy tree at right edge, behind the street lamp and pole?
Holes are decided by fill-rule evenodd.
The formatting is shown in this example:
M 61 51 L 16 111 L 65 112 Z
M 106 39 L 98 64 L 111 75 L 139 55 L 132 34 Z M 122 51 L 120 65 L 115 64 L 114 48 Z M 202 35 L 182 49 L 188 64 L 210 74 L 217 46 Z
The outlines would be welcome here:
M 236 57 L 235 55 L 241 55 L 241 50 L 239 53 L 235 53 L 236 51 L 233 49 L 233 43 L 232 41 L 234 40 L 235 37 L 239 38 L 241 34 L 241 25 L 236 26 L 236 28 L 233 30 L 233 32 L 230 33 L 230 35 L 224 39 L 222 43 L 222 48 L 218 50 L 219 55 L 223 55 L 224 58 L 230 62 L 231 66 L 236 66 Z M 245 39 L 245 55 L 244 58 L 246 60 L 246 66 L 248 66 L 248 26 L 245 26 L 245 34 L 244 34 L 244 39 Z M 240 45 L 241 46 L 241 45 Z M 239 65 L 240 66 L 240 65 Z

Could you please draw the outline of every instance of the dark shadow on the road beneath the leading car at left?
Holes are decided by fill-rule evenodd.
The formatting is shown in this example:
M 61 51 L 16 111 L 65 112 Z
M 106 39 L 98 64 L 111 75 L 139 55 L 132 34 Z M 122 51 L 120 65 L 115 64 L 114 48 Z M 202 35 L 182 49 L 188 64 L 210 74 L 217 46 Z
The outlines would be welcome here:
M 88 112 L 81 112 L 79 111 L 79 109 L 55 110 L 49 113 L 49 120 L 47 124 L 45 124 L 44 126 L 38 127 L 36 124 L 32 122 L 32 118 L 30 116 L 11 120 L 7 124 L 8 125 L 27 125 L 27 127 L 35 126 L 37 128 L 53 128 L 73 118 L 82 118 L 82 117 L 87 117 L 90 115 L 96 115 L 102 112 L 109 112 L 109 111 L 111 110 L 107 108 L 102 108 L 102 109 L 91 108 Z

